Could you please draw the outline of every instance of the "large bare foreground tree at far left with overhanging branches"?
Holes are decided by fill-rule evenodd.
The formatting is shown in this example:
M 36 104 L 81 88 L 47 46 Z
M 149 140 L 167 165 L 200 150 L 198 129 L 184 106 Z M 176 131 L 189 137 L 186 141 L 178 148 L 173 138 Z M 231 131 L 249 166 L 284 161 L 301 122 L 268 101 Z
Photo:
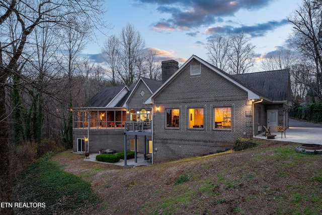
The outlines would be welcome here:
M 65 25 L 66 16 L 74 14 L 82 22 L 91 21 L 93 25 L 100 23 L 101 0 L 70 0 L 70 1 L 1 1 L 0 7 L 0 200 L 1 202 L 13 202 L 12 184 L 9 177 L 9 146 L 8 125 L 6 111 L 6 86 L 8 78 L 15 73 L 25 47 L 28 44 L 30 34 L 40 23 L 50 23 L 52 26 Z M 8 38 L 10 22 L 17 22 L 17 38 Z M 94 24 L 95 23 L 95 24 Z M 17 48 L 10 50 L 15 44 Z M 3 214 L 12 214 L 12 208 L 0 208 Z

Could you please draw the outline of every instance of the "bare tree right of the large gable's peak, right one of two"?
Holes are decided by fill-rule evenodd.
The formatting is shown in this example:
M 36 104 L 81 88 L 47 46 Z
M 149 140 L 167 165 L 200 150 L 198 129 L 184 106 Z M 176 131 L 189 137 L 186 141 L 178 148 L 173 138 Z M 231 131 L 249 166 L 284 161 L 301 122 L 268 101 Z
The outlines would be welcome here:
M 229 69 L 228 73 L 238 75 L 247 73 L 255 64 L 255 45 L 249 42 L 241 32 L 231 35 L 229 39 Z

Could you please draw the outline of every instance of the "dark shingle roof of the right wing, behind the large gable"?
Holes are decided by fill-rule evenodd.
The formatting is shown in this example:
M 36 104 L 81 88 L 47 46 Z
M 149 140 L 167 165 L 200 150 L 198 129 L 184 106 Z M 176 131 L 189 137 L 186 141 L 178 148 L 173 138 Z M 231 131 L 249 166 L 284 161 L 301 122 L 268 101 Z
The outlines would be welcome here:
M 272 101 L 288 101 L 289 70 L 262 71 L 234 75 L 240 82 L 258 91 Z

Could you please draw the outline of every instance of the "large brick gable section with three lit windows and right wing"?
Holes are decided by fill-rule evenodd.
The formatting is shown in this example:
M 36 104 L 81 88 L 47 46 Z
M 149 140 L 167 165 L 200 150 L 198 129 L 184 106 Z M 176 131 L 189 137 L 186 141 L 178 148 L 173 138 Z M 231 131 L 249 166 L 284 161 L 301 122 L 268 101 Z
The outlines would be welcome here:
M 231 76 L 192 55 L 145 102 L 153 108 L 153 163 L 231 149 L 262 126 L 288 125 L 288 70 Z

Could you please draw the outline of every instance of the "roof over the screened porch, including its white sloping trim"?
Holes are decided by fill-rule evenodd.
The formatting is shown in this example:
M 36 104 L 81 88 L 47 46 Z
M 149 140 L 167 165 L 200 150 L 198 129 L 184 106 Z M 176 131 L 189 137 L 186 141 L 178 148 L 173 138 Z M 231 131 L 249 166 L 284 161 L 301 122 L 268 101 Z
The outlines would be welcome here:
M 120 94 L 126 94 L 129 88 L 125 85 L 116 87 L 105 87 L 101 89 L 95 96 L 93 96 L 90 101 L 85 105 L 85 107 L 107 107 L 109 104 L 114 103 L 113 107 L 117 107 L 116 104 L 122 100 L 123 96 Z M 118 95 L 120 95 L 118 97 Z

